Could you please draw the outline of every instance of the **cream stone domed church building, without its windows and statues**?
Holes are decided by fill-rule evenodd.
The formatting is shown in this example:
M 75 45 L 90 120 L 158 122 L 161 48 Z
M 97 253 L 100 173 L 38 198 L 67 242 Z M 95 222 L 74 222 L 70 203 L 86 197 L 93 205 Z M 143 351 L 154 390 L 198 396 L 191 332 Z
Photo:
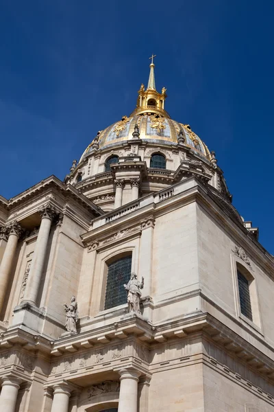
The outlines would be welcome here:
M 136 116 L 99 133 L 64 182 L 0 197 L 0 410 L 274 411 L 273 257 L 191 129 L 155 117 L 178 136 L 152 124 L 147 137 Z M 126 299 L 105 309 L 110 264 L 129 255 L 145 278 L 141 317 Z M 73 295 L 77 334 L 65 329 Z

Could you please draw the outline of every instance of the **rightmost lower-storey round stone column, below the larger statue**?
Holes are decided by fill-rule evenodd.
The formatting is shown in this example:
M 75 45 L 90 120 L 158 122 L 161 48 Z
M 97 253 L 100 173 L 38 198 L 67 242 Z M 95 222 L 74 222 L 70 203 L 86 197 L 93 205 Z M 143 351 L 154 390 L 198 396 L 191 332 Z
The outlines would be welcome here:
M 136 369 L 129 368 L 120 370 L 119 374 L 121 376 L 121 386 L 118 412 L 137 412 L 140 372 Z

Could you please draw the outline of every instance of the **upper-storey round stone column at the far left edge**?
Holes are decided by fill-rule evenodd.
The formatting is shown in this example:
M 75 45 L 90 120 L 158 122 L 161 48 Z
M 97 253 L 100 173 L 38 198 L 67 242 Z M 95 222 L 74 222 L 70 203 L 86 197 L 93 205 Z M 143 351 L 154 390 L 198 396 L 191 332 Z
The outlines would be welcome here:
M 5 252 L 0 266 L 0 311 L 3 306 L 3 301 L 5 299 L 5 292 L 8 286 L 8 279 L 10 275 L 10 269 L 12 268 L 12 262 L 14 260 L 14 253 L 16 251 L 16 246 L 18 243 L 18 238 L 22 232 L 21 226 L 16 222 L 11 223 L 8 229 L 8 243 L 5 247 Z

